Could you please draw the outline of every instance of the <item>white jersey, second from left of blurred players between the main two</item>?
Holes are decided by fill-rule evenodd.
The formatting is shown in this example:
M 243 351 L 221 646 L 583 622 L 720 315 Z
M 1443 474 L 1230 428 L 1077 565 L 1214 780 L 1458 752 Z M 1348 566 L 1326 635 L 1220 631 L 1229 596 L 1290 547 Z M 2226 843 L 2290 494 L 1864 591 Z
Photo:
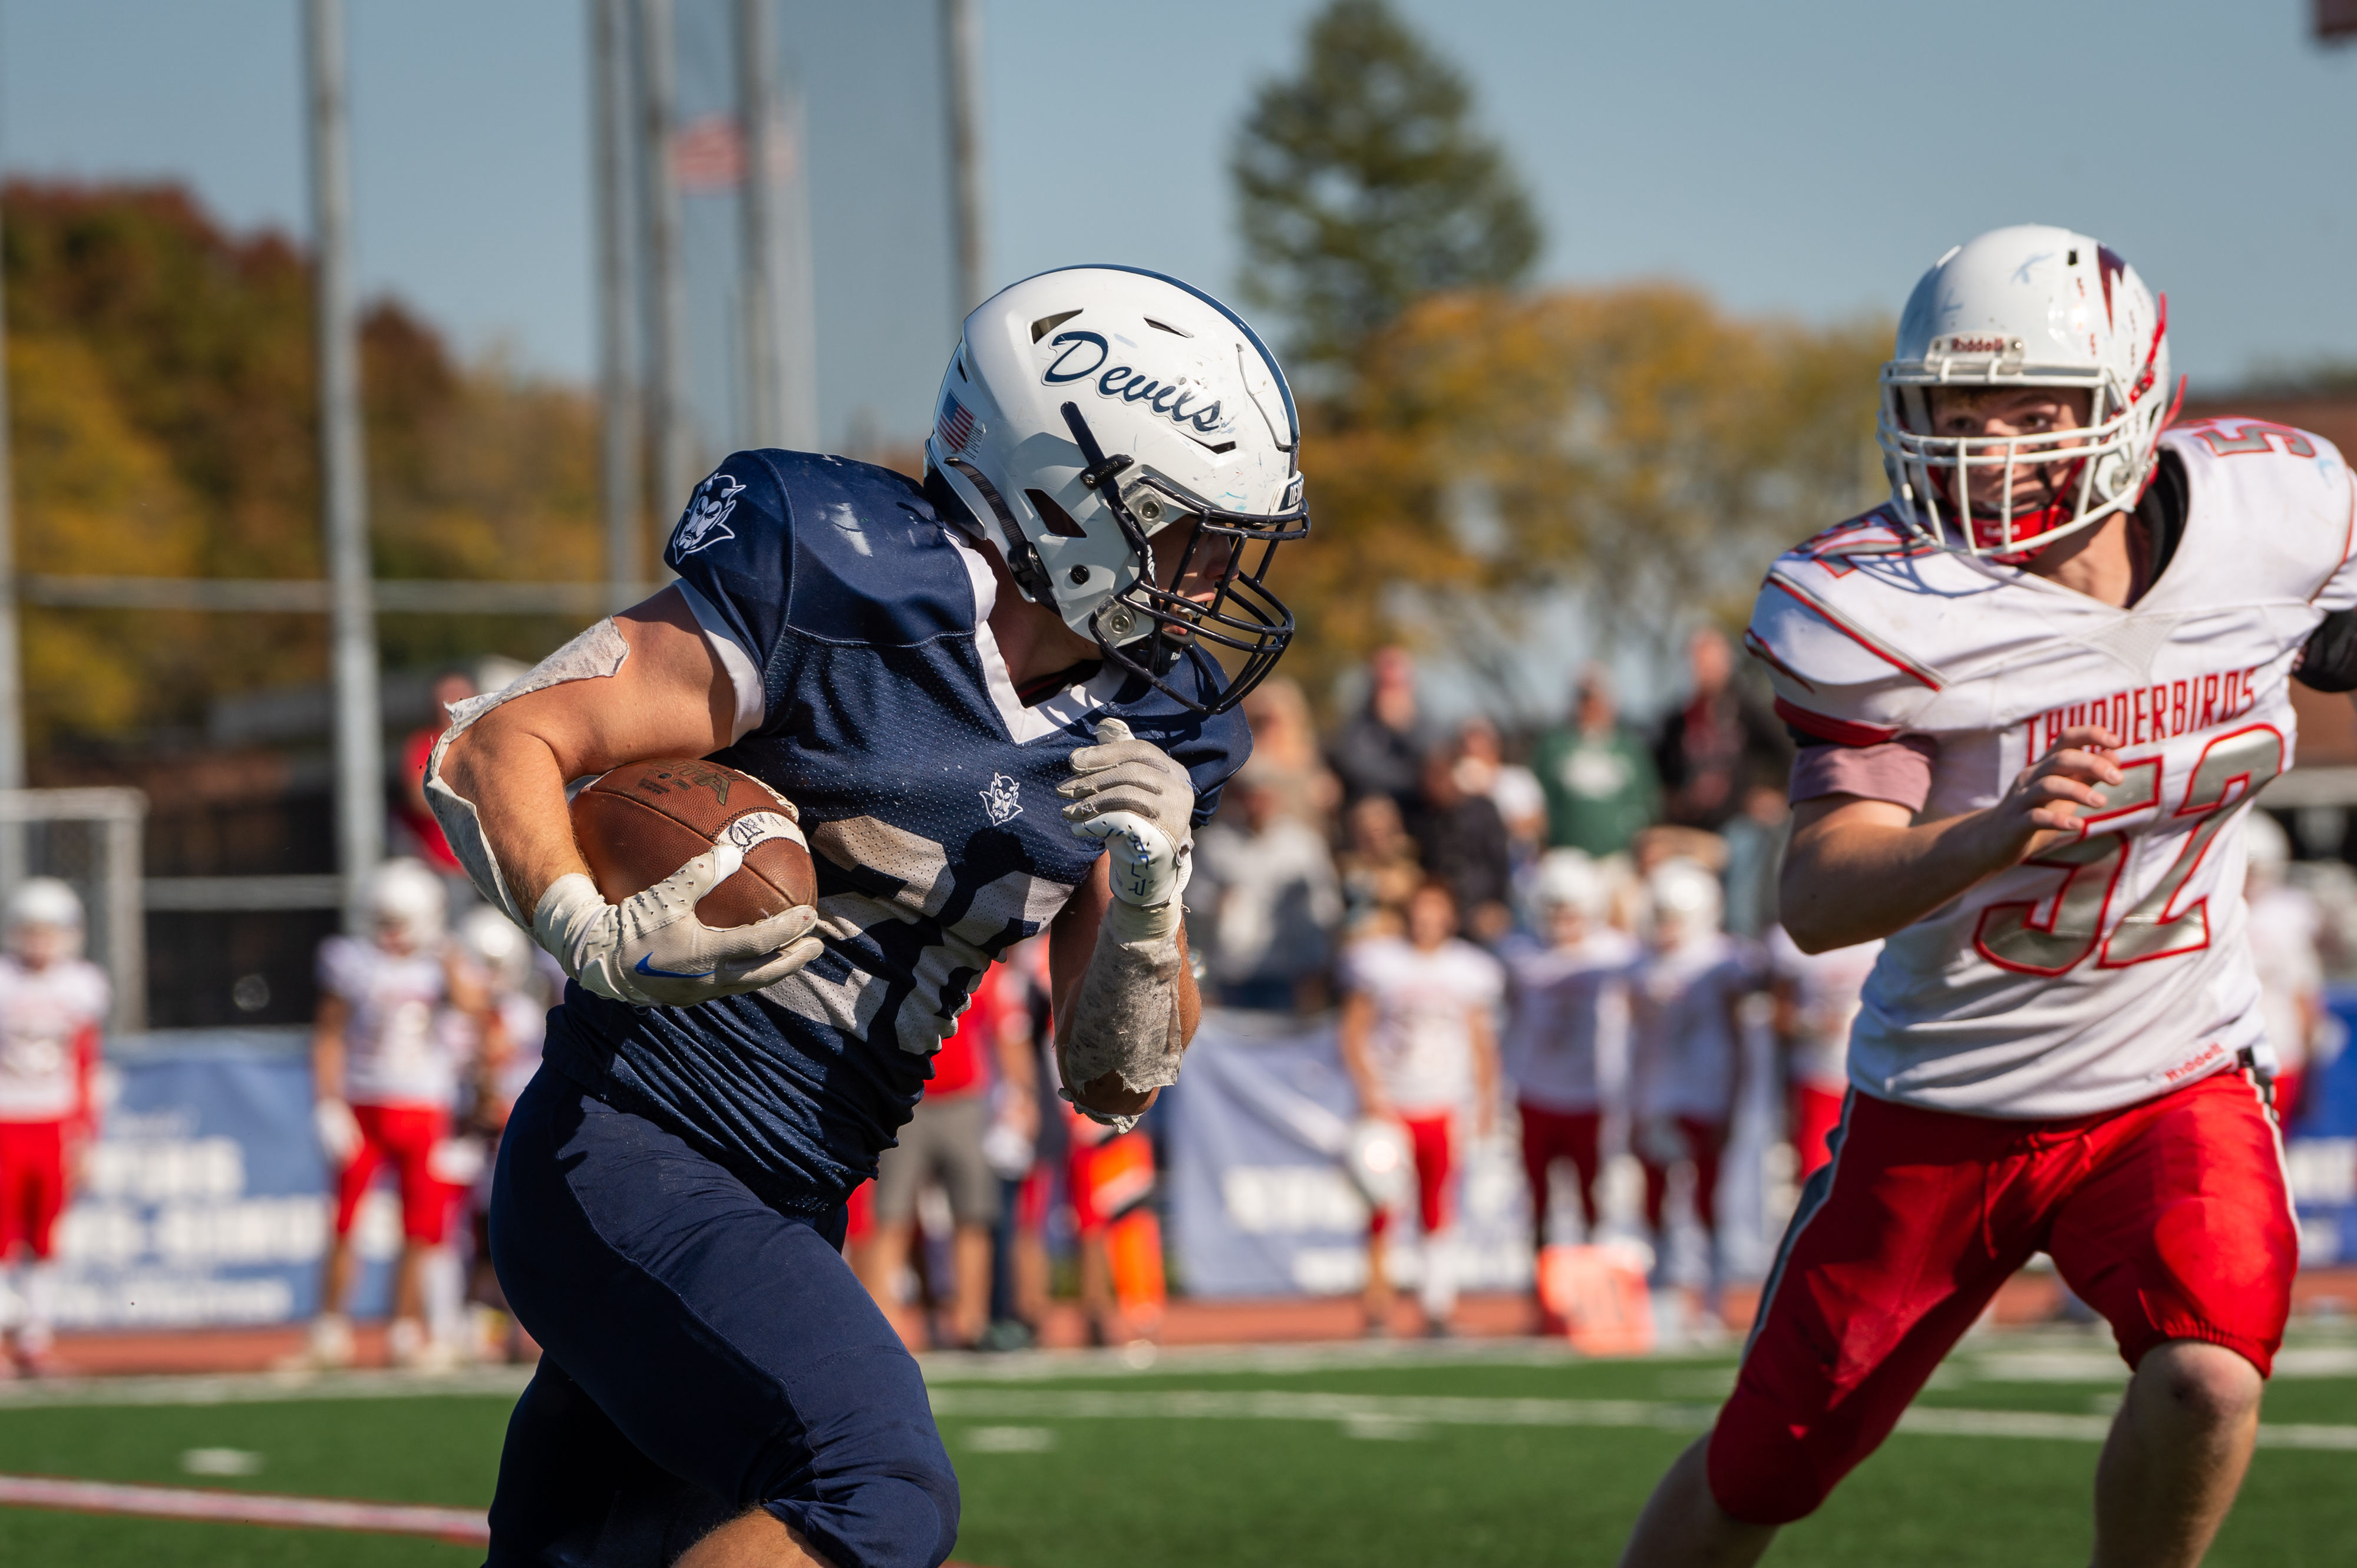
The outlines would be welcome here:
M 1523 937 L 1504 949 L 1513 979 L 1506 1081 L 1541 1111 L 1593 1111 L 1629 1062 L 1629 965 L 1636 939 L 1591 930 L 1570 946 Z

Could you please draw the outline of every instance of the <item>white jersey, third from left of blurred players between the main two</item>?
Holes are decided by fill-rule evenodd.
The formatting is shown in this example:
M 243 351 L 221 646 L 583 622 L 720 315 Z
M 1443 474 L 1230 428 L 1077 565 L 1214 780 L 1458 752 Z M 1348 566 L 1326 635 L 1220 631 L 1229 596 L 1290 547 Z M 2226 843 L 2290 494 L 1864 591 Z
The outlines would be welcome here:
M 1758 986 L 1758 949 L 1716 930 L 1638 958 L 1629 975 L 1629 1097 L 1640 1118 L 1735 1114 L 1742 1062 L 1735 1010 Z

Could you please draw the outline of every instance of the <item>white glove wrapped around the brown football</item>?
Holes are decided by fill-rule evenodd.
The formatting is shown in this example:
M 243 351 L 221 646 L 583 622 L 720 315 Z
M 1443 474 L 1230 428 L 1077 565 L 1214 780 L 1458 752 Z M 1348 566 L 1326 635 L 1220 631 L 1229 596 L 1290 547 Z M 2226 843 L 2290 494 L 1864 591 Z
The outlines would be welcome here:
M 742 864 L 745 852 L 721 843 L 620 904 L 580 871 L 559 876 L 533 911 L 533 937 L 585 989 L 632 1008 L 693 1008 L 773 986 L 825 951 L 811 935 L 818 909 L 726 930 L 698 921 L 695 904 Z

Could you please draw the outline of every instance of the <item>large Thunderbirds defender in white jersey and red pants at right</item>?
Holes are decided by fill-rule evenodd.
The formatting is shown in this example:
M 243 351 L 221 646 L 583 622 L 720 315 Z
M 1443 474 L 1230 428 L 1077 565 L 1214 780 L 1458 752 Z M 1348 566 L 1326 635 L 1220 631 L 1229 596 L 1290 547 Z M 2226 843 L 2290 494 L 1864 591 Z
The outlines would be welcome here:
M 2161 301 L 2065 228 L 1942 257 L 1881 379 L 1893 499 L 1770 567 L 1749 645 L 1815 742 L 1784 928 L 1888 944 L 1834 1163 L 1626 1561 L 1756 1561 L 2044 1250 L 2135 1368 L 2093 1561 L 2197 1563 L 2296 1262 L 2239 829 L 2293 669 L 2357 683 L 2357 492 L 2303 431 L 2168 431 Z

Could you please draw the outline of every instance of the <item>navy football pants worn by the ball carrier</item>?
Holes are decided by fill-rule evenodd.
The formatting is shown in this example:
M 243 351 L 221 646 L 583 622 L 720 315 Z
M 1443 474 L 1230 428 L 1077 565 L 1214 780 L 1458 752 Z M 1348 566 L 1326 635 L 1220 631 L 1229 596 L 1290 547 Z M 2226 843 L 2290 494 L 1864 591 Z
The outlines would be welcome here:
M 493 1568 L 653 1568 L 754 1507 L 837 1568 L 936 1568 L 957 1476 L 839 1227 L 544 1067 L 490 1198 L 500 1288 L 547 1351 L 507 1424 Z

